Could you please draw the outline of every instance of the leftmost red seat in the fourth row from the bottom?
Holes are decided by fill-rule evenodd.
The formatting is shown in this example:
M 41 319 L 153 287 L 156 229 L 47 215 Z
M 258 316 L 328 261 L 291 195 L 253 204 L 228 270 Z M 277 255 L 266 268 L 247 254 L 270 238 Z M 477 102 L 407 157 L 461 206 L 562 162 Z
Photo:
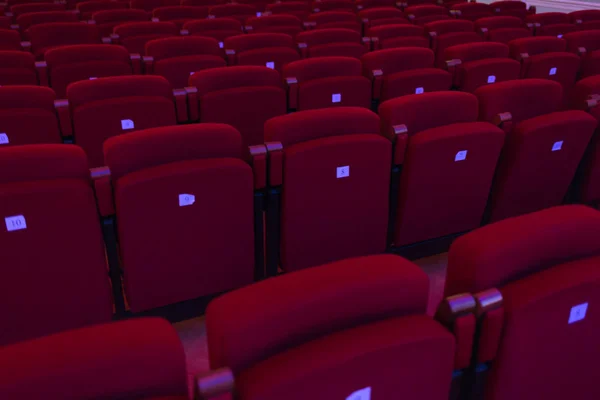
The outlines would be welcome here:
M 35 57 L 31 53 L 0 50 L 0 86 L 37 84 Z

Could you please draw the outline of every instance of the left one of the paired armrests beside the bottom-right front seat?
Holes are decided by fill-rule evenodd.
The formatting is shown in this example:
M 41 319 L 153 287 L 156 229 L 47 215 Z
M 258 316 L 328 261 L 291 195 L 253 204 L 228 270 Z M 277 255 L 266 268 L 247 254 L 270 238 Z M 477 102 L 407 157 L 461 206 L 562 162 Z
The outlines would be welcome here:
M 475 309 L 475 298 L 463 293 L 444 299 L 435 315 L 456 338 L 456 369 L 467 368 L 471 364 L 476 328 Z

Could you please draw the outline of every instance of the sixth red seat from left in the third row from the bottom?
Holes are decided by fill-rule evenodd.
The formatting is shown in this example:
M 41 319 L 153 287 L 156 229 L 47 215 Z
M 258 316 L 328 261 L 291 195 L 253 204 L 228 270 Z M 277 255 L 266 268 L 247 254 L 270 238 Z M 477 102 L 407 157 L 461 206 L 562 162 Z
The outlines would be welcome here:
M 489 42 L 459 44 L 444 51 L 447 68 L 454 75 L 454 85 L 463 92 L 519 79 L 521 64 L 508 55 L 507 45 Z

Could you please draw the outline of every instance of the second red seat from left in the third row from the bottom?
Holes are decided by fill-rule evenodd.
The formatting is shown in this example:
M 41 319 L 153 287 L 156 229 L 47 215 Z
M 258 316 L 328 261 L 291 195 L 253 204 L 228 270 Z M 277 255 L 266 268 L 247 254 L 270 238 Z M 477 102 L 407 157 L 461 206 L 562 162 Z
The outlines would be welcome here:
M 135 130 L 175 125 L 169 82 L 159 76 L 122 76 L 75 82 L 67 88 L 75 143 L 91 167 L 103 165 L 102 143 Z

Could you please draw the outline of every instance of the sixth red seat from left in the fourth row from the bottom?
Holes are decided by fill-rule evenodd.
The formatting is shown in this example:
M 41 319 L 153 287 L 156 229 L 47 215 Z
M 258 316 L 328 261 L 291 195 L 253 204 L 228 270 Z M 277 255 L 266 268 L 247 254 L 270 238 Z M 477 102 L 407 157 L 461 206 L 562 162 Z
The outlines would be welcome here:
M 391 49 L 395 47 L 429 47 L 422 26 L 411 24 L 379 25 L 367 29 L 373 49 Z

